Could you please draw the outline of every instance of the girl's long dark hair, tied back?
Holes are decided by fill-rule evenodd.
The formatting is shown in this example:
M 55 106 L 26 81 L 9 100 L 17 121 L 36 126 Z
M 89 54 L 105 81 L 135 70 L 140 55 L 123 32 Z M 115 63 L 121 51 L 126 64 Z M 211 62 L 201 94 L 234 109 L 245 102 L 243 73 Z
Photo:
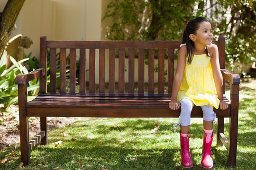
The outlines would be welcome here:
M 182 43 L 186 43 L 186 46 L 187 46 L 188 64 L 191 64 L 193 59 L 193 53 L 194 53 L 194 42 L 189 38 L 189 35 L 196 34 L 196 31 L 199 29 L 200 24 L 202 22 L 209 22 L 209 21 L 204 17 L 194 18 L 187 23 L 187 26 L 184 30 Z M 210 57 L 210 54 L 208 52 L 208 47 L 206 47 L 205 51 L 206 51 L 206 55 Z

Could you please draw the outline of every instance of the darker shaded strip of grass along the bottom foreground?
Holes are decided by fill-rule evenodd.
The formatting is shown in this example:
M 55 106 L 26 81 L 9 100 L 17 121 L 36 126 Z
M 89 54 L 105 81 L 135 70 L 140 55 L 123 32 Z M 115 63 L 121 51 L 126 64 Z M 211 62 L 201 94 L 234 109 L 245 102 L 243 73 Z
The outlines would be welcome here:
M 114 143 L 115 141 L 112 141 Z M 75 147 L 77 146 L 77 147 Z M 227 166 L 227 152 L 223 148 L 212 146 L 213 169 L 232 170 L 254 168 L 254 160 L 250 160 L 247 153 L 238 152 L 237 168 Z M 204 170 L 201 168 L 201 148 L 191 148 L 194 163 L 191 170 Z M 39 154 L 38 154 L 39 153 Z M 76 162 L 81 161 L 82 165 Z M 1 170 L 18 167 L 20 159 L 11 164 L 1 165 Z M 244 164 L 246 163 L 246 167 Z M 11 165 L 11 166 L 10 166 Z M 15 165 L 15 166 L 14 166 Z M 81 139 L 72 145 L 59 147 L 37 146 L 31 153 L 31 164 L 19 168 L 26 170 L 52 170 L 59 167 L 62 170 L 183 170 L 180 165 L 180 150 L 171 146 L 163 149 L 127 149 L 97 144 L 97 139 Z M 16 169 L 16 168 L 15 168 Z

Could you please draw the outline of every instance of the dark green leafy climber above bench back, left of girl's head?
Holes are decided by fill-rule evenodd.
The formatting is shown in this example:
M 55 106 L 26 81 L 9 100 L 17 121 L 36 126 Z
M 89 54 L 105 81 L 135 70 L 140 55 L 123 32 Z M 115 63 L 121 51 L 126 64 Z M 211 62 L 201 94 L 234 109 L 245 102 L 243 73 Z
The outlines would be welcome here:
M 111 18 L 110 40 L 180 40 L 195 0 L 112 0 L 104 19 Z M 179 12 L 180 11 L 180 12 Z

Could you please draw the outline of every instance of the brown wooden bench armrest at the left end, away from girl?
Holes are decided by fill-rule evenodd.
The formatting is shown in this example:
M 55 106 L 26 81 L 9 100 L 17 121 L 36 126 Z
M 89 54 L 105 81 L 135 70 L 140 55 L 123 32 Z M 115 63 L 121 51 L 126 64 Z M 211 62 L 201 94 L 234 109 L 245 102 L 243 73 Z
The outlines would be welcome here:
M 23 85 L 27 82 L 37 79 L 41 76 L 45 76 L 45 69 L 39 68 L 31 73 L 25 74 L 25 75 L 18 75 L 15 80 L 16 85 Z

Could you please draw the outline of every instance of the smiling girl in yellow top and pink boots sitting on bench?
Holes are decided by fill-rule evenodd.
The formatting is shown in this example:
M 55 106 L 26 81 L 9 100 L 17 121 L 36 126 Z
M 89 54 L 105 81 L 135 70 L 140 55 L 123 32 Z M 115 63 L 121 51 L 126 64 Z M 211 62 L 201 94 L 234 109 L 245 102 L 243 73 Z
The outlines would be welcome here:
M 221 110 L 228 108 L 228 104 L 223 100 L 223 78 L 219 67 L 218 47 L 212 44 L 212 39 L 210 23 L 203 17 L 197 17 L 187 23 L 183 44 L 179 50 L 169 108 L 177 110 L 181 107 L 180 122 L 177 125 L 181 127 L 181 165 L 184 168 L 193 166 L 188 135 L 193 106 L 201 106 L 203 111 L 201 166 L 207 169 L 213 166 L 210 154 L 213 120 L 216 119 L 213 107 Z

